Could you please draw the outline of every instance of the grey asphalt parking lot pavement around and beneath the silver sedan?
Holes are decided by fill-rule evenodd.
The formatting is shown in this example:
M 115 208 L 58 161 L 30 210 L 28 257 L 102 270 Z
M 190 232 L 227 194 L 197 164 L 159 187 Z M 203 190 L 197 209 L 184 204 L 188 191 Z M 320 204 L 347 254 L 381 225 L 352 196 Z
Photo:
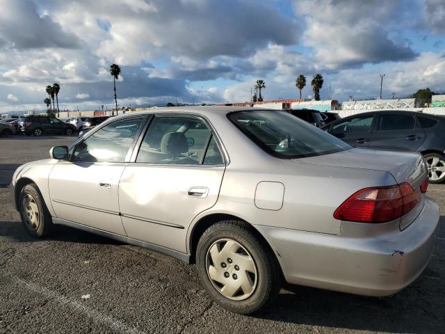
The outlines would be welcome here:
M 410 287 L 384 298 L 286 287 L 246 317 L 213 303 L 195 267 L 166 255 L 63 226 L 44 240 L 26 234 L 5 184 L 75 139 L 0 138 L 0 333 L 445 333 L 445 184 L 430 185 L 442 216 Z

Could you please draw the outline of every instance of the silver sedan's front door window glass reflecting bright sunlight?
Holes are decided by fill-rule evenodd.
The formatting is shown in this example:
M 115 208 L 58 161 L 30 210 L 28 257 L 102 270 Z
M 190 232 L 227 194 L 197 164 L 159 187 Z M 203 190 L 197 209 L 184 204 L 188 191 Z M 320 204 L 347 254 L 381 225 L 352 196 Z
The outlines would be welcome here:
M 102 127 L 74 149 L 73 161 L 124 162 L 145 116 L 125 118 Z

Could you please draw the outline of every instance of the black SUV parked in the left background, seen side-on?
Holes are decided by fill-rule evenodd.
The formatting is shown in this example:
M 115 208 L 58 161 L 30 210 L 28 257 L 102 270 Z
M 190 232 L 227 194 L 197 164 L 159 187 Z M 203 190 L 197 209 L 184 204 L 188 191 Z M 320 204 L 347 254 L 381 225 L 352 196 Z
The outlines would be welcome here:
M 19 131 L 26 136 L 42 136 L 43 134 L 70 136 L 76 132 L 76 127 L 51 116 L 24 116 L 19 120 Z

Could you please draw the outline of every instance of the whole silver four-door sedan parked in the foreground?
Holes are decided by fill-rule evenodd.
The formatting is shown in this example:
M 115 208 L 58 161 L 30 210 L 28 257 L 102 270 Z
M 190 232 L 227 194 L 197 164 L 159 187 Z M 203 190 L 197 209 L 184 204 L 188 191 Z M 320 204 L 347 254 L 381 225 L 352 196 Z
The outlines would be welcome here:
M 352 148 L 284 111 L 116 116 L 49 154 L 10 186 L 31 235 L 68 225 L 195 262 L 243 314 L 282 278 L 394 294 L 425 269 L 439 222 L 421 154 Z

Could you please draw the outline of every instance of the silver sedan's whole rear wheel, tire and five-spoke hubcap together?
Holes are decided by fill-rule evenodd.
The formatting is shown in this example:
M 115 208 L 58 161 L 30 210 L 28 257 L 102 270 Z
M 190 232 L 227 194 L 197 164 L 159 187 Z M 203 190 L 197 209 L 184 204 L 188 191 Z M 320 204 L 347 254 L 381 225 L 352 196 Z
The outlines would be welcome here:
M 227 310 L 250 315 L 280 291 L 275 255 L 242 221 L 211 225 L 198 242 L 196 257 L 204 289 Z

